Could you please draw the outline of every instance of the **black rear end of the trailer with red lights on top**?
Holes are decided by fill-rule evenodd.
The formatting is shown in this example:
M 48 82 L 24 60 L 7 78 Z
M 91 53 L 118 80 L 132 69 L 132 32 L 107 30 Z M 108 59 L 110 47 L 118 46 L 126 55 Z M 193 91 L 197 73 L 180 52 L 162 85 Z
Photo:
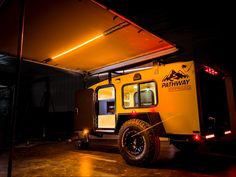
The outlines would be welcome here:
M 206 65 L 201 65 L 198 73 L 201 132 L 206 137 L 220 137 L 230 130 L 224 74 Z

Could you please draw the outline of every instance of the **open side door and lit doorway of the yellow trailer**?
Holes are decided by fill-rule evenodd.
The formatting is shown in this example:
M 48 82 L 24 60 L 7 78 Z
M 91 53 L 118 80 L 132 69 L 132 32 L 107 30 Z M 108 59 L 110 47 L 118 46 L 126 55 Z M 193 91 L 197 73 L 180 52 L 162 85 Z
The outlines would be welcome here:
M 112 85 L 80 89 L 75 95 L 74 130 L 80 132 L 114 132 L 116 125 L 115 89 Z

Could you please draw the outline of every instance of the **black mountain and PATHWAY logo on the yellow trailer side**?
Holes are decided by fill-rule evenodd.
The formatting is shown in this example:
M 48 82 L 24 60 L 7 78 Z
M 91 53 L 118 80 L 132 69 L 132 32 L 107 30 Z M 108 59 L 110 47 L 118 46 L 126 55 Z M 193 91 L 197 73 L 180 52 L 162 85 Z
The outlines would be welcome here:
M 190 78 L 187 74 L 192 65 L 187 67 L 182 65 L 182 70 L 175 71 L 172 69 L 168 75 L 162 79 L 162 88 L 168 88 L 168 91 L 175 92 L 181 90 L 190 90 Z

